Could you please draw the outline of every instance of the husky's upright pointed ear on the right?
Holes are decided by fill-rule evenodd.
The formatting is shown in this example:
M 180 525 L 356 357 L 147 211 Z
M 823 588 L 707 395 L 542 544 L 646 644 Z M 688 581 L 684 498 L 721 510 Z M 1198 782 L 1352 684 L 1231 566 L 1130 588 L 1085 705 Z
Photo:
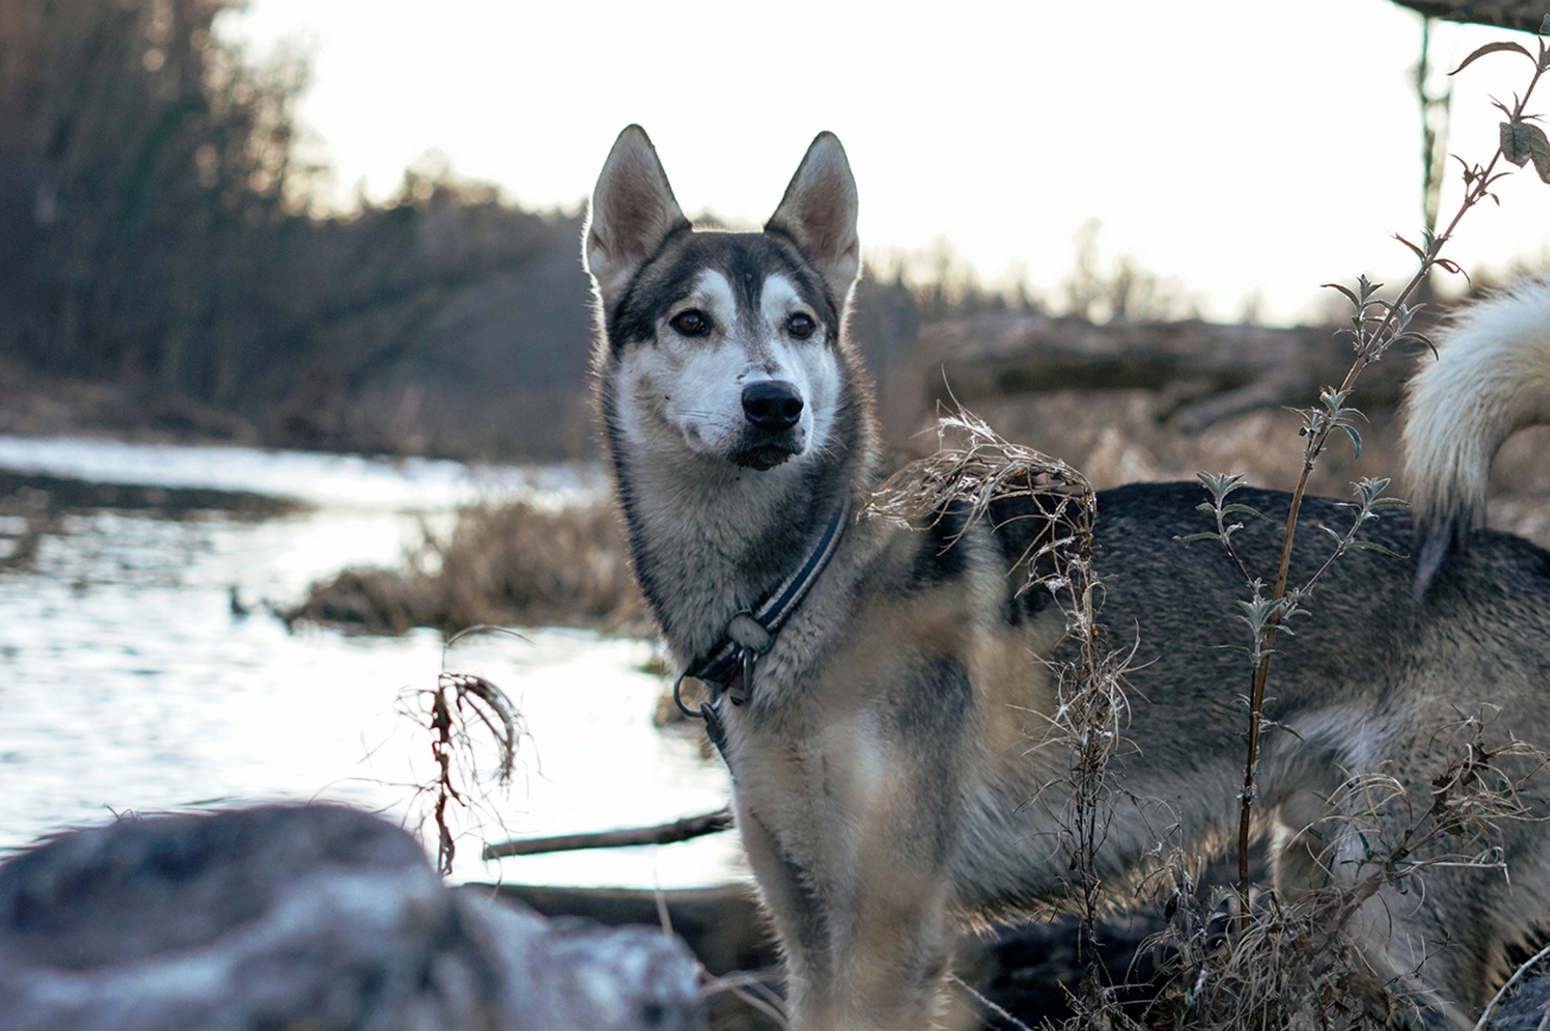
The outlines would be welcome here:
M 797 240 L 840 304 L 862 268 L 856 206 L 856 178 L 845 147 L 832 132 L 820 132 L 764 223 L 766 229 L 780 229 Z

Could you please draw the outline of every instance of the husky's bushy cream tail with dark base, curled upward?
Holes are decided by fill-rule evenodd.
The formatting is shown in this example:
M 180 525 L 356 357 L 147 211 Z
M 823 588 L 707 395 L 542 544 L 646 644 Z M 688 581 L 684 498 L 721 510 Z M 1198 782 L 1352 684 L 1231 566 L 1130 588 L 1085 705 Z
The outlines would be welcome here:
M 1485 522 L 1491 459 L 1513 433 L 1550 422 L 1550 276 L 1462 312 L 1437 361 L 1410 380 L 1404 473 L 1415 512 L 1415 594 Z

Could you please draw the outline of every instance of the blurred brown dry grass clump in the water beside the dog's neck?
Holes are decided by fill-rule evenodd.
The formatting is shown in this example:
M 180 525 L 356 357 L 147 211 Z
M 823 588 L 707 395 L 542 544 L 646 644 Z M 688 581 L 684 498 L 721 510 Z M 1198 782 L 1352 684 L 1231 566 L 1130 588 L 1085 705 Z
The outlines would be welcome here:
M 515 502 L 465 509 L 446 540 L 426 533 L 403 569 L 346 569 L 279 615 L 374 634 L 482 623 L 629 631 L 643 626 L 645 605 L 611 505 Z

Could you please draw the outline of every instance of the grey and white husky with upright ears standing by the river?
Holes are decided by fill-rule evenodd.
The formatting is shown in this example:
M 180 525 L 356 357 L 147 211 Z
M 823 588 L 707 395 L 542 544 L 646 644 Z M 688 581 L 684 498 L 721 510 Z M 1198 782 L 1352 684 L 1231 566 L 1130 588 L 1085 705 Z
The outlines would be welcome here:
M 857 515 L 880 474 L 873 398 L 845 336 L 856 209 L 845 152 L 822 133 L 761 233 L 696 233 L 631 126 L 583 242 L 636 575 L 673 656 L 711 688 L 702 715 L 732 771 L 800 1031 L 930 1026 L 959 929 L 1025 912 L 1070 876 L 1066 760 L 1032 744 L 1056 704 L 1049 662 L 1073 645 L 1049 594 L 1008 575 L 1029 522 L 946 512 L 910 530 Z M 1285 730 L 1262 753 L 1257 808 L 1280 814 L 1286 890 L 1350 865 L 1316 847 L 1322 800 L 1348 777 L 1392 775 L 1424 814 L 1438 732 L 1460 715 L 1500 707 L 1493 729 L 1550 744 L 1550 555 L 1472 529 L 1494 445 L 1550 403 L 1547 293 L 1471 316 L 1412 394 L 1420 569 L 1370 550 L 1341 558 L 1314 615 L 1279 642 L 1266 718 Z M 1198 484 L 1097 495 L 1100 617 L 1136 642 L 1135 747 L 1114 760 L 1127 795 L 1102 840 L 1104 876 L 1135 868 L 1169 826 L 1197 843 L 1237 826 L 1248 668 L 1220 645 L 1243 634 L 1245 586 L 1221 547 L 1178 541 L 1209 529 L 1204 499 Z M 1276 491 L 1234 499 L 1273 518 L 1288 507 Z M 1328 557 L 1321 524 L 1348 521 L 1307 499 L 1293 575 Z M 1273 569 L 1280 535 L 1249 526 L 1234 543 Z M 1412 524 L 1384 516 L 1366 536 L 1407 552 Z M 1375 975 L 1412 978 L 1428 1022 L 1465 1026 L 1504 950 L 1550 924 L 1545 837 L 1544 823 L 1496 828 L 1510 882 L 1438 868 L 1370 899 L 1352 933 Z

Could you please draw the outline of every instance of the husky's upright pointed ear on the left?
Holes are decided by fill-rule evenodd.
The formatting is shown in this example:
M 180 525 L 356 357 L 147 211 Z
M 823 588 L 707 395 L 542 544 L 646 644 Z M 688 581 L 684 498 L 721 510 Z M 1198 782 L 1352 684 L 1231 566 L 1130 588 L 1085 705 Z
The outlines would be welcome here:
M 597 177 L 581 231 L 581 259 L 603 304 L 625 288 L 668 233 L 687 225 L 646 130 L 626 126 Z

